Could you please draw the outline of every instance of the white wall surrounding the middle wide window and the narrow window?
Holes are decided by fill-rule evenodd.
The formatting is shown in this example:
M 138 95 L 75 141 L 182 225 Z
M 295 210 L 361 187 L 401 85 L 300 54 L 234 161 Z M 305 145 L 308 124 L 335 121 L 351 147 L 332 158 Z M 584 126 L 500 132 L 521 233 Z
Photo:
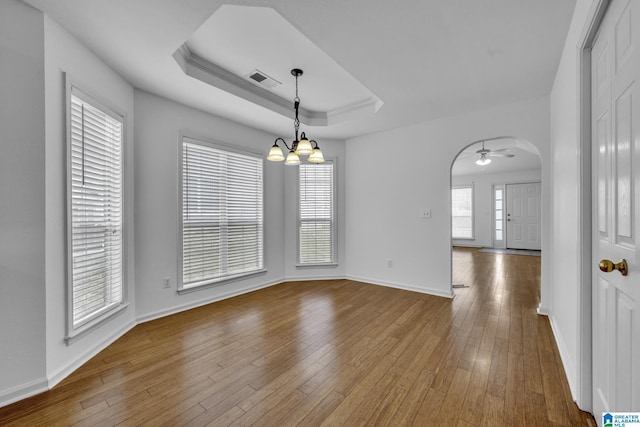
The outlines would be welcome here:
M 339 267 L 331 269 L 295 269 L 296 183 L 290 182 L 285 186 L 284 177 L 286 174 L 287 179 L 295 181 L 297 168 L 265 161 L 267 272 L 178 295 L 177 189 L 180 134 L 243 147 L 259 155 L 268 151 L 275 136 L 139 90 L 135 91 L 135 111 L 136 310 L 139 320 L 148 320 L 279 283 L 285 278 L 344 277 L 343 262 Z M 344 143 L 323 140 L 321 147 L 327 158 L 338 158 L 338 176 L 344 176 L 344 162 L 340 162 L 344 158 Z M 339 179 L 338 206 L 344 212 L 344 181 Z M 341 229 L 344 228 L 343 216 L 344 214 L 338 217 Z M 339 233 L 338 241 L 344 242 L 343 232 Z M 164 277 L 170 277 L 170 289 L 163 287 Z

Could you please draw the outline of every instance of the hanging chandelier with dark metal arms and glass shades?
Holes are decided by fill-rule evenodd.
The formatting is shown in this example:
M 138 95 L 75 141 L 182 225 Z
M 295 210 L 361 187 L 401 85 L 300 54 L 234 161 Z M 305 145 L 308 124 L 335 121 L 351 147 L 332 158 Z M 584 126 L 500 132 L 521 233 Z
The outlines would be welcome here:
M 269 150 L 269 154 L 267 155 L 267 160 L 272 162 L 281 162 L 285 160 L 282 149 L 278 145 L 278 141 L 281 141 L 287 150 L 289 150 L 289 154 L 287 154 L 287 159 L 284 162 L 285 165 L 299 165 L 300 164 L 300 156 L 309 156 L 307 161 L 309 163 L 323 163 L 324 156 L 322 155 L 322 151 L 320 151 L 320 147 L 318 147 L 318 143 L 313 139 L 307 139 L 307 136 L 302 132 L 300 134 L 300 139 L 298 139 L 298 131 L 300 129 L 300 120 L 298 119 L 298 107 L 300 107 L 300 98 L 298 97 L 298 77 L 302 75 L 302 70 L 299 68 L 294 68 L 291 70 L 291 75 L 296 78 L 296 97 L 293 98 L 293 106 L 296 112 L 295 119 L 293 120 L 293 128 L 295 129 L 295 139 L 291 143 L 291 147 L 287 145 L 287 142 L 278 137 L 273 143 L 271 150 Z M 311 145 L 313 143 L 313 145 Z

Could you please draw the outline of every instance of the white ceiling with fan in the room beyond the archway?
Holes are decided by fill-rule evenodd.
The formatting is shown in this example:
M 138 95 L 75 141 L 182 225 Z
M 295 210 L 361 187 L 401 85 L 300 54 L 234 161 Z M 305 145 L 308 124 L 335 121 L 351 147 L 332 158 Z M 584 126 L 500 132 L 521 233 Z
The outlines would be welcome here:
M 538 150 L 528 141 L 498 137 L 485 141 L 484 147 L 491 151 L 503 150 L 499 154 L 513 154 L 514 157 L 489 156 L 491 163 L 485 166 L 478 166 L 475 162 L 480 157 L 477 151 L 482 148 L 482 142 L 476 142 L 458 154 L 451 167 L 451 175 L 485 175 L 542 169 L 542 161 Z

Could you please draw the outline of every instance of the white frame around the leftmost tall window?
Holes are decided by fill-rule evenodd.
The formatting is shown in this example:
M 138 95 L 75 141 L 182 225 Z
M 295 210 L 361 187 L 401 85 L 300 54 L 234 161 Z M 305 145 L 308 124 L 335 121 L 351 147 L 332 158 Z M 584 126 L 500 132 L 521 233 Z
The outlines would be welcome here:
M 112 234 L 119 235 L 119 242 L 115 243 L 115 269 L 109 269 L 108 275 L 116 274 L 120 275 L 119 279 L 116 278 L 112 282 L 111 287 L 106 286 L 104 291 L 111 297 L 110 301 L 105 306 L 94 310 L 80 319 L 75 319 L 75 305 L 74 305 L 74 221 L 73 212 L 76 206 L 73 203 L 74 189 L 77 191 L 78 187 L 73 185 L 73 145 L 74 145 L 74 132 L 72 129 L 72 103 L 73 98 L 83 103 L 85 108 L 93 108 L 98 110 L 101 114 L 109 116 L 111 119 L 119 122 L 120 129 L 120 153 L 119 153 L 119 215 L 120 218 L 116 219 L 115 227 L 112 230 Z M 127 269 L 125 265 L 126 259 L 126 230 L 125 230 L 125 145 L 126 145 L 126 116 L 119 112 L 117 109 L 110 107 L 104 101 L 99 100 L 89 92 L 74 85 L 67 77 L 66 79 L 66 131 L 67 131 L 67 330 L 65 342 L 67 345 L 73 343 L 75 340 L 83 336 L 85 333 L 93 330 L 99 325 L 103 324 L 107 320 L 111 319 L 115 315 L 124 311 L 128 306 L 127 287 L 125 286 Z M 88 105 L 88 107 L 87 107 Z M 84 118 L 81 118 L 84 122 Z M 77 132 L 75 133 L 77 136 Z M 84 134 L 80 138 L 85 138 Z M 114 205 L 117 209 L 117 205 Z M 113 224 L 112 224 L 113 225 Z M 113 237 L 109 238 L 109 241 L 113 241 Z M 113 253 L 112 253 L 113 254 Z M 113 257 L 109 255 L 109 257 Z M 113 265 L 113 264 L 112 264 Z M 119 270 L 119 271 L 118 271 Z

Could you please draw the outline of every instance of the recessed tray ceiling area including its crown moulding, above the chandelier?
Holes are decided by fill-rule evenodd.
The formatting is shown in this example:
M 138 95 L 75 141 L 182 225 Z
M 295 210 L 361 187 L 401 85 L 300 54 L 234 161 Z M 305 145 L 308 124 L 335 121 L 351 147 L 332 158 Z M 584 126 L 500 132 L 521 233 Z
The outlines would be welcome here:
M 270 7 L 220 6 L 174 58 L 185 74 L 288 119 L 296 93 L 291 70 L 304 64 L 300 120 L 307 125 L 353 120 L 382 106 L 375 94 Z M 255 71 L 272 84 L 250 79 Z M 305 96 L 308 93 L 312 96 Z

